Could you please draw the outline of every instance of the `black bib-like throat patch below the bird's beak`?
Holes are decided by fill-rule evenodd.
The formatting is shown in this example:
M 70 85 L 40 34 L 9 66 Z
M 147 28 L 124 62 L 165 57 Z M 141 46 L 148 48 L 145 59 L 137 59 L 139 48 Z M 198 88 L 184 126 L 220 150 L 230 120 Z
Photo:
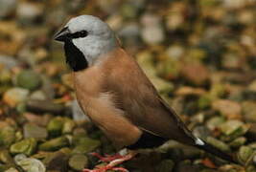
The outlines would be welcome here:
M 65 41 L 64 51 L 66 55 L 66 62 L 74 72 L 81 71 L 88 67 L 88 62 L 85 56 L 71 40 Z

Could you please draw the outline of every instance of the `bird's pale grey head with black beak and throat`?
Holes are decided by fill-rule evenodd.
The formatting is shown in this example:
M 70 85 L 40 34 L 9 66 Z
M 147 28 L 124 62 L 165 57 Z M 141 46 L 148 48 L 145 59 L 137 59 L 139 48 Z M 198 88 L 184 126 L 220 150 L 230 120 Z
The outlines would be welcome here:
M 55 40 L 64 42 L 66 61 L 74 71 L 92 66 L 117 46 L 114 32 L 100 18 L 80 15 L 70 19 Z

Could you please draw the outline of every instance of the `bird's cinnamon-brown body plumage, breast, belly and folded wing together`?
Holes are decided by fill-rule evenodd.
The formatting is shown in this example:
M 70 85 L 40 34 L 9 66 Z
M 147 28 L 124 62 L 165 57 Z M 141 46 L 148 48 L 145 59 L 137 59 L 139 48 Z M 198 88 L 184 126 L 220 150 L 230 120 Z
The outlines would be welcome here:
M 121 48 L 105 55 L 73 78 L 82 109 L 118 148 L 135 143 L 142 131 L 195 144 L 131 56 Z

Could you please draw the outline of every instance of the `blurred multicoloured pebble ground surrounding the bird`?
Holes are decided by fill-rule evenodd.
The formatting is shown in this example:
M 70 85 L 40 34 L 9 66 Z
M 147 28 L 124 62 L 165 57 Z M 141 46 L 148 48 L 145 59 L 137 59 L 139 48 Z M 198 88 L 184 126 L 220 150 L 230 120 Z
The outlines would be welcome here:
M 119 36 L 199 138 L 246 164 L 170 141 L 130 171 L 256 171 L 255 0 L 0 0 L 0 171 L 75 172 L 113 153 L 82 114 L 53 35 L 92 14 Z

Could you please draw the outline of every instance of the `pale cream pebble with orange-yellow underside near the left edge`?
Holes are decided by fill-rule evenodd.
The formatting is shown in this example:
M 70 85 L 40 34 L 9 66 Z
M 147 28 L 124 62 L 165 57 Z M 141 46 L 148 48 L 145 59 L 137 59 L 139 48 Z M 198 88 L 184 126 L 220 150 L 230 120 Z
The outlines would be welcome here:
M 4 94 L 3 99 L 8 105 L 15 107 L 18 103 L 24 102 L 28 95 L 29 90 L 13 87 Z

